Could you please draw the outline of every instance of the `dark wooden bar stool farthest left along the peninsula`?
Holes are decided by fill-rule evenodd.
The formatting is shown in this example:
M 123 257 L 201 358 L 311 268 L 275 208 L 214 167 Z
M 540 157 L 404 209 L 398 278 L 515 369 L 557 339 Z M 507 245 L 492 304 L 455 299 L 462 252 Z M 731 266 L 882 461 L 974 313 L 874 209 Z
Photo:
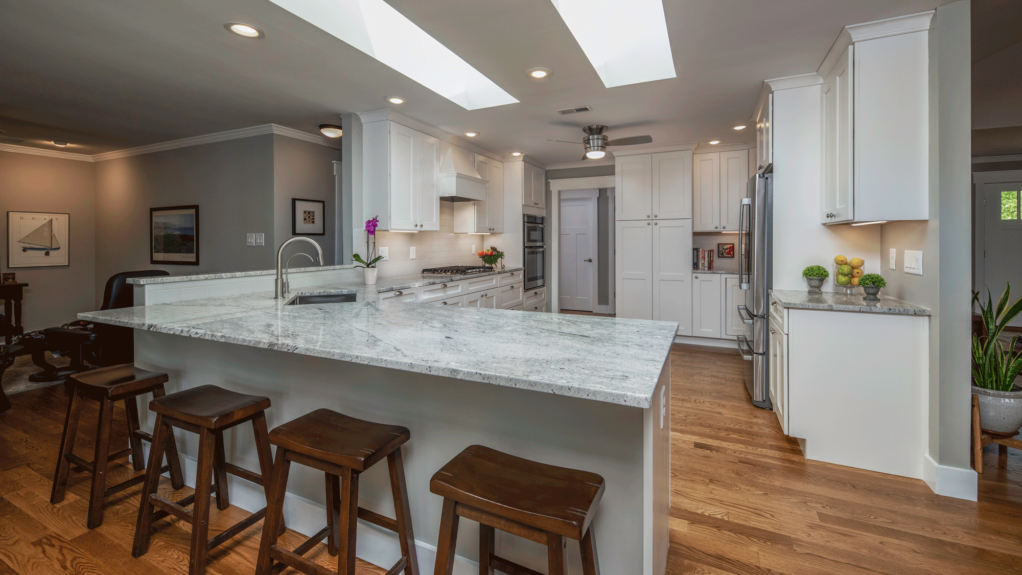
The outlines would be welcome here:
M 160 467 L 164 458 L 150 458 L 151 466 L 155 466 L 159 474 L 171 472 L 171 484 L 175 489 L 184 487 L 185 482 L 181 475 L 181 462 L 178 459 L 177 446 L 174 443 L 174 436 L 153 440 L 153 437 L 141 429 L 138 422 L 138 404 L 135 397 L 144 393 L 151 393 L 153 398 L 164 397 L 164 383 L 168 380 L 167 373 L 156 371 L 146 371 L 139 369 L 130 363 L 123 365 L 112 365 L 101 367 L 91 371 L 75 373 L 67 382 L 72 387 L 71 401 L 67 403 L 67 415 L 64 418 L 63 436 L 60 438 L 60 452 L 57 459 L 57 469 L 53 473 L 53 491 L 50 494 L 51 503 L 59 503 L 64 498 L 64 491 L 67 488 L 67 476 L 71 471 L 88 471 L 92 474 L 92 490 L 89 496 L 89 519 L 87 525 L 89 529 L 95 529 L 103 524 L 103 501 L 106 497 L 123 491 L 133 485 L 138 485 L 145 481 L 146 476 L 140 475 L 127 481 L 123 481 L 111 487 L 106 487 L 106 469 L 110 461 L 131 454 L 132 465 L 135 471 L 144 468 L 144 455 L 142 453 L 142 440 L 153 444 L 152 451 L 164 452 L 162 442 L 169 442 L 167 449 L 167 466 Z M 93 459 L 86 461 L 74 453 L 75 436 L 78 434 L 78 419 L 82 410 L 83 398 L 95 399 L 99 402 L 99 422 L 96 426 L 96 448 Z M 113 404 L 124 400 L 125 410 L 128 414 L 128 441 L 129 447 L 117 453 L 110 453 L 110 429 L 113 425 Z M 160 443 L 160 449 L 156 449 L 156 444 Z M 72 463 L 75 465 L 72 468 Z

